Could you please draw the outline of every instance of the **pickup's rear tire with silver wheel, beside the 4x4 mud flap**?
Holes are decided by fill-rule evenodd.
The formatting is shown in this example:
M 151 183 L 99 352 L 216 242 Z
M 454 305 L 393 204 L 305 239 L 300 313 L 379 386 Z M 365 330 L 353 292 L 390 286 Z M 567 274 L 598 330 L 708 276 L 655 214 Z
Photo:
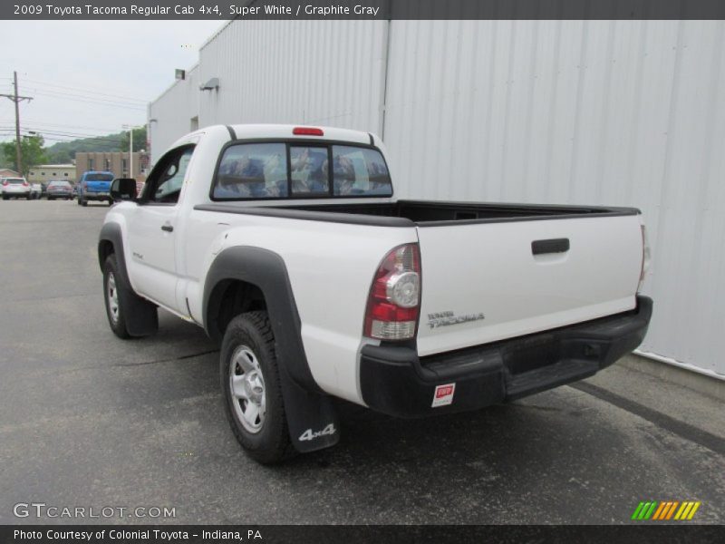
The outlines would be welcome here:
M 227 420 L 247 455 L 263 464 L 292 457 L 275 336 L 266 312 L 248 312 L 229 322 L 219 364 Z

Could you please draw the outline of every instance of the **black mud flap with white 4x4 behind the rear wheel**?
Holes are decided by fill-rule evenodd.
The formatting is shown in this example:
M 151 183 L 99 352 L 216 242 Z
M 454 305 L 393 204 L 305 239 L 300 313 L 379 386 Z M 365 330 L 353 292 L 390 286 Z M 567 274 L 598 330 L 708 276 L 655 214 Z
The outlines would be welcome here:
M 284 365 L 279 379 L 285 400 L 287 427 L 297 452 L 315 452 L 340 441 L 340 423 L 332 399 L 320 393 L 310 393 L 295 384 Z

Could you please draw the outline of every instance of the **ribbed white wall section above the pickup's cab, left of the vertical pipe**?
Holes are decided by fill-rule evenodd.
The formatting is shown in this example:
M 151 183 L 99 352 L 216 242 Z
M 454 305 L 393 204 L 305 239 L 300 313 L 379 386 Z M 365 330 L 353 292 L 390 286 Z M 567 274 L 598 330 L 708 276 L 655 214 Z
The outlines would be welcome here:
M 200 52 L 200 126 L 290 122 L 378 131 L 385 29 L 379 21 L 238 21 Z

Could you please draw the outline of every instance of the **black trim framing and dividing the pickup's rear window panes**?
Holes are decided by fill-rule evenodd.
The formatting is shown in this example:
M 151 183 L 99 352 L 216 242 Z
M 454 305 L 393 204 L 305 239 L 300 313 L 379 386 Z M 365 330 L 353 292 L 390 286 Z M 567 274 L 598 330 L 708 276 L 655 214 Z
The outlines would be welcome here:
M 260 198 L 240 198 L 240 199 L 218 199 L 214 197 L 214 188 L 217 186 L 217 180 L 218 180 L 218 173 L 219 173 L 219 167 L 221 166 L 221 160 L 224 157 L 224 153 L 227 151 L 228 148 L 235 146 L 235 145 L 242 145 L 246 143 L 284 143 L 286 146 L 287 151 L 287 196 L 286 197 L 269 197 L 266 199 L 260 199 Z M 217 165 L 214 167 L 214 176 L 211 180 L 211 185 L 209 186 L 209 199 L 212 202 L 267 202 L 267 201 L 285 201 L 285 200 L 315 200 L 315 199 L 331 199 L 331 200 L 347 200 L 347 199 L 391 199 L 393 195 L 395 194 L 395 188 L 392 186 L 392 179 L 391 179 L 391 194 L 390 195 L 335 195 L 334 193 L 334 172 L 332 169 L 332 155 L 333 155 L 333 146 L 339 145 L 344 147 L 359 147 L 362 149 L 368 149 L 368 150 L 374 150 L 378 151 L 380 153 L 380 156 L 382 157 L 382 161 L 385 163 L 385 168 L 388 170 L 388 175 L 390 176 L 391 169 L 388 166 L 388 161 L 385 159 L 385 154 L 381 151 L 381 149 L 374 145 L 374 144 L 368 144 L 368 143 L 362 143 L 362 142 L 356 142 L 356 141 L 346 141 L 346 140 L 330 140 L 325 138 L 240 138 L 235 140 L 230 140 L 225 143 L 221 151 L 219 151 L 219 156 L 217 157 Z M 292 193 L 292 161 L 290 160 L 290 147 L 304 147 L 304 146 L 311 146 L 311 147 L 327 147 L 327 157 L 328 157 L 328 180 L 329 180 L 329 187 L 327 194 L 324 193 L 300 193 L 294 195 Z

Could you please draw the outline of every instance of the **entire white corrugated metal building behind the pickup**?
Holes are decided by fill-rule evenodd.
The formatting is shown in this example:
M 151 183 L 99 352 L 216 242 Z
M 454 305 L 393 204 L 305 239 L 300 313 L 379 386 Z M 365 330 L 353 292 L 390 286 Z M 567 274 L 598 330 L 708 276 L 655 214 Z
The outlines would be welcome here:
M 725 376 L 725 22 L 240 21 L 149 106 L 374 131 L 396 194 L 643 209 L 643 352 Z M 218 89 L 199 85 L 218 78 Z

